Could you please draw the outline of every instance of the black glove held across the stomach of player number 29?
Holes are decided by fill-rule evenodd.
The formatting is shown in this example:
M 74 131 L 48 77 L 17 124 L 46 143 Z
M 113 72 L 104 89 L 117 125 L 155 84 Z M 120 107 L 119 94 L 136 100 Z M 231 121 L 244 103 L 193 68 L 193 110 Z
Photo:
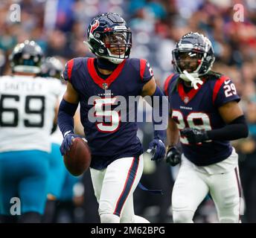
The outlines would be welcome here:
M 182 136 L 188 138 L 190 144 L 196 144 L 203 141 L 208 141 L 207 132 L 203 129 L 185 128 L 180 132 Z

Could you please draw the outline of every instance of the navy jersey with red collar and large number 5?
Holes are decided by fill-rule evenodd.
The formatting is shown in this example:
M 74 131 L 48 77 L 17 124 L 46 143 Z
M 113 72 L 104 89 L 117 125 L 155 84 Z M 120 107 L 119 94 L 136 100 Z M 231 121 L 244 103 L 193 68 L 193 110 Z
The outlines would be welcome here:
M 103 169 L 118 158 L 143 153 L 134 121 L 137 104 L 123 108 L 127 111 L 127 121 L 121 120 L 120 112 L 115 109 L 120 106 L 121 97 L 128 102 L 129 96 L 140 95 L 153 71 L 146 60 L 127 59 L 104 80 L 97 74 L 95 60 L 86 57 L 69 60 L 63 78 L 79 94 L 80 120 L 92 152 L 91 167 Z M 97 121 L 89 120 L 92 112 Z

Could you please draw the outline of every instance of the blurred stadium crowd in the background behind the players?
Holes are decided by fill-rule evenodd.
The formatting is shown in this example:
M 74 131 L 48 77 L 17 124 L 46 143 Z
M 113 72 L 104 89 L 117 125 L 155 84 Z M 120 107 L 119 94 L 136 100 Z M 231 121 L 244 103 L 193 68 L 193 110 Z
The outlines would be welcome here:
M 21 22 L 10 21 L 10 5 L 21 7 Z M 234 21 L 235 4 L 242 4 L 244 21 Z M 33 39 L 63 64 L 73 57 L 92 57 L 83 44 L 93 16 L 120 13 L 132 29 L 132 55 L 147 59 L 160 86 L 170 74 L 171 51 L 185 33 L 198 31 L 211 39 L 214 71 L 236 84 L 249 123 L 249 138 L 234 141 L 240 155 L 240 176 L 245 198 L 243 222 L 256 222 L 256 1 L 255 0 L 20 0 L 0 1 L 0 75 L 10 74 L 8 55 L 16 43 Z M 152 125 L 141 123 L 138 136 L 147 148 Z M 147 160 L 142 183 L 164 190 L 164 196 L 135 192 L 135 213 L 150 222 L 171 222 L 170 196 L 178 167 Z M 90 176 L 74 187 L 73 202 L 60 202 L 56 222 L 99 222 Z M 83 184 L 83 186 L 81 185 Z M 82 186 L 82 188 L 81 188 Z M 81 193 L 83 192 L 83 195 Z M 210 198 L 196 214 L 195 222 L 217 222 Z

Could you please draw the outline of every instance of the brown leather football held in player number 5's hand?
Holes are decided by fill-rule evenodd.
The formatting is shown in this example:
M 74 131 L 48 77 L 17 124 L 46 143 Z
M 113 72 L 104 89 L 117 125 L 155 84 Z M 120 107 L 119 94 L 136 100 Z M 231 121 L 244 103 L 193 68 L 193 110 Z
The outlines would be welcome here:
M 82 138 L 74 138 L 70 150 L 63 157 L 65 167 L 73 176 L 80 176 L 91 164 L 90 148 Z

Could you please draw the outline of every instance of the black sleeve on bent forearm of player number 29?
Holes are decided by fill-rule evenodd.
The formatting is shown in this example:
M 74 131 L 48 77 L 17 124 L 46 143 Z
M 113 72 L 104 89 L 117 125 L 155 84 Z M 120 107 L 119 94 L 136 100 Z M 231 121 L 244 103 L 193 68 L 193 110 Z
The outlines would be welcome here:
M 246 138 L 249 135 L 249 130 L 245 116 L 241 115 L 223 128 L 212 129 L 206 133 L 210 140 L 233 141 L 240 138 Z

